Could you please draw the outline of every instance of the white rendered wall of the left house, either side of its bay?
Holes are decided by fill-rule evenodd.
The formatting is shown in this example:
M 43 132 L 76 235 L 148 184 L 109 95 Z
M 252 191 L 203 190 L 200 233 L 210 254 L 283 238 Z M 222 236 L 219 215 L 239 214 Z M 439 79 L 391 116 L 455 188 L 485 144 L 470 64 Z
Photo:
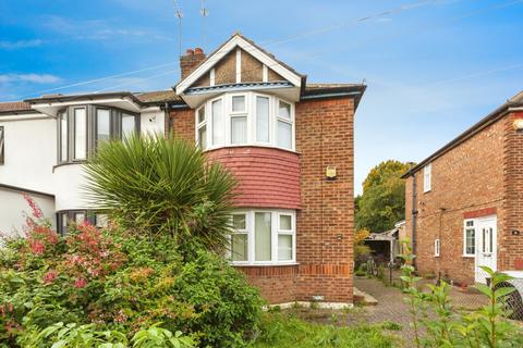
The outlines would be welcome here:
M 144 110 L 141 130 L 143 134 L 163 134 L 165 122 L 165 112 L 159 108 Z M 0 116 L 0 126 L 4 126 L 5 130 L 5 163 L 0 165 L 0 184 L 54 195 L 53 212 L 89 209 L 82 188 L 86 183 L 82 165 L 56 166 L 56 119 L 44 114 Z M 13 224 L 9 214 L 20 212 L 17 201 L 12 195 L 0 196 L 0 229 Z M 8 206 L 13 208 L 4 213 L 8 210 L 3 208 Z M 13 221 L 17 223 L 15 217 Z

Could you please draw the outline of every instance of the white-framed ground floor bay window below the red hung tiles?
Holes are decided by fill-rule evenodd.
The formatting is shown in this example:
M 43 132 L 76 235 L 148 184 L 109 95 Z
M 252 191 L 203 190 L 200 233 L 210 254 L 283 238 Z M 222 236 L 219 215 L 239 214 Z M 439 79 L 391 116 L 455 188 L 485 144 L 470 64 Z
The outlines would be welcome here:
M 296 262 L 296 214 L 293 210 L 239 210 L 231 216 L 229 259 L 238 265 Z

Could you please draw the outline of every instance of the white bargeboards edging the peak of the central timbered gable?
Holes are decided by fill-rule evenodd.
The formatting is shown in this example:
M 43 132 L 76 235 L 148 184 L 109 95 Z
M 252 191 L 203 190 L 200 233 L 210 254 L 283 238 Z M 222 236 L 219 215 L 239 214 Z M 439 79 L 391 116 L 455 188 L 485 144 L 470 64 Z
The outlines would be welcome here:
M 284 77 L 295 87 L 302 87 L 304 84 L 304 75 L 299 74 L 295 70 L 276 59 L 273 54 L 265 51 L 254 41 L 247 39 L 240 33 L 235 33 L 229 40 L 223 42 L 220 47 L 218 47 L 218 49 L 203 60 L 184 79 L 173 87 L 177 91 L 177 95 L 183 95 L 187 88 L 190 88 L 199 77 L 209 72 L 216 65 L 216 63 L 218 63 L 223 57 L 226 57 L 236 47 L 240 47 L 245 52 L 253 55 L 259 62 Z

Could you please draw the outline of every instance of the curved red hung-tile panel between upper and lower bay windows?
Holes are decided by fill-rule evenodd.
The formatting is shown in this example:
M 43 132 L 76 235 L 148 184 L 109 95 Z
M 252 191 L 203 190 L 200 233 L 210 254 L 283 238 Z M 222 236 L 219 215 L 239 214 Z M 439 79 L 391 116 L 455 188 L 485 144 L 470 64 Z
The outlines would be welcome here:
M 221 148 L 207 152 L 239 181 L 236 207 L 300 209 L 300 163 L 294 152 L 262 147 Z

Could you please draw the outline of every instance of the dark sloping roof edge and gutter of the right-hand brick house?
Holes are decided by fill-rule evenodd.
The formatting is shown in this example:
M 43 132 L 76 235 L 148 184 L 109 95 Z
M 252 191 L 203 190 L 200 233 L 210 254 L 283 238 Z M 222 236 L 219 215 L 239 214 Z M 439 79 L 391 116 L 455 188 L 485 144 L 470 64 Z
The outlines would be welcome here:
M 479 122 L 477 122 L 475 125 L 473 125 L 472 127 L 470 127 L 469 129 L 460 134 L 452 141 L 450 141 L 449 144 L 447 144 L 446 146 L 443 146 L 442 148 L 440 148 L 439 150 L 430 154 L 428 158 L 419 162 L 417 165 L 410 169 L 409 172 L 403 174 L 402 178 L 406 178 L 415 174 L 431 161 L 443 156 L 445 153 L 449 152 L 457 146 L 469 140 L 470 138 L 472 138 L 473 136 L 475 136 L 476 134 L 478 134 L 479 132 L 488 127 L 489 125 L 497 122 L 499 119 L 504 116 L 511 108 L 519 108 L 519 107 L 523 107 L 523 91 L 520 91 L 518 95 L 507 100 L 507 102 L 504 102 L 501 107 L 499 107 L 498 109 L 494 110 L 488 115 L 479 120 Z

